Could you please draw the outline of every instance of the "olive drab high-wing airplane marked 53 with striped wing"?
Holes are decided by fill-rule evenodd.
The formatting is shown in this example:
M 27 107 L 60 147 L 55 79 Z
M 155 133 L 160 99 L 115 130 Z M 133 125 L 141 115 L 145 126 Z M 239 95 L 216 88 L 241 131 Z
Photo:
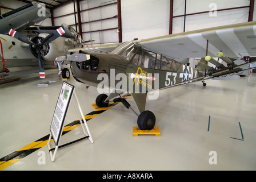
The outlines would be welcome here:
M 71 49 L 70 55 L 57 57 L 57 60 L 70 61 L 75 80 L 97 86 L 98 90 L 102 86 L 113 90 L 109 96 L 102 93 L 96 98 L 98 107 L 105 107 L 114 99 L 129 108 L 130 104 L 122 99 L 121 93 L 131 94 L 140 113 L 137 114 L 138 127 L 151 130 L 155 115 L 145 110 L 147 93 L 194 81 L 205 85 L 208 78 L 230 78 L 236 72 L 252 69 L 250 65 L 256 61 L 255 40 L 256 22 L 250 22 L 134 39 L 110 46 Z M 213 59 L 215 55 L 223 63 Z M 197 61 L 197 68 L 174 60 L 189 57 L 202 57 Z M 244 64 L 235 64 L 237 59 L 244 60 Z M 205 64 L 206 61 L 215 68 Z

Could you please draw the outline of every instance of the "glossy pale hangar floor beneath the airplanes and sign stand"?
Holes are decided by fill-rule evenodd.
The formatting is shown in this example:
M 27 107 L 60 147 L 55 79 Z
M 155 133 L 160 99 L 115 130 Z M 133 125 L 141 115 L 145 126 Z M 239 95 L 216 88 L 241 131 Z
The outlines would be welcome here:
M 62 85 L 57 69 L 23 76 L 0 85 L 0 169 L 2 170 L 255 170 L 256 75 L 236 81 L 207 80 L 161 90 L 158 100 L 147 100 L 161 137 L 133 137 L 137 117 L 122 104 L 87 122 L 88 139 L 60 148 L 51 162 L 47 146 L 20 160 L 5 156 L 50 133 L 50 124 Z M 53 81 L 48 86 L 38 86 Z M 71 78 L 83 114 L 93 111 L 97 88 Z M 127 99 L 137 111 L 133 99 Z M 210 117 L 209 117 L 210 116 Z M 64 125 L 77 119 L 70 105 Z M 209 121 L 210 119 L 210 121 Z M 83 137 L 81 127 L 61 137 L 61 144 Z M 53 142 L 52 142 L 53 143 Z M 51 144 L 52 145 L 52 144 Z M 214 152 L 213 152 L 214 151 Z M 13 153 L 14 152 L 14 153 Z M 6 159 L 7 160 L 7 159 Z M 210 164 L 215 162 L 215 164 Z M 216 164 L 217 163 L 217 164 Z M 2 166 L 2 167 L 1 167 Z

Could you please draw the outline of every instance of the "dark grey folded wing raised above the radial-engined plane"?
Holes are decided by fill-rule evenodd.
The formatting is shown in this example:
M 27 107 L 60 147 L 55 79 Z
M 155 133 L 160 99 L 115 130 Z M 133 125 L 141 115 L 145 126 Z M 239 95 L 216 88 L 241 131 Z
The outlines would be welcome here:
M 38 16 L 39 15 L 42 16 Z M 43 14 L 45 12 L 45 14 Z M 10 29 L 16 31 L 25 30 L 35 23 L 42 22 L 42 20 L 50 17 L 50 12 L 38 6 L 38 3 L 32 2 L 18 9 L 9 11 L 0 15 L 0 34 L 8 34 Z

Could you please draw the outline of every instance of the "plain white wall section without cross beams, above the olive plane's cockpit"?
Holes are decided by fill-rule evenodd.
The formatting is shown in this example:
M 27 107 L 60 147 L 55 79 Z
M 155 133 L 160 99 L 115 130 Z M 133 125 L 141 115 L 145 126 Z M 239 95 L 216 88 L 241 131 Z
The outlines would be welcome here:
M 170 0 L 122 0 L 123 41 L 169 34 Z

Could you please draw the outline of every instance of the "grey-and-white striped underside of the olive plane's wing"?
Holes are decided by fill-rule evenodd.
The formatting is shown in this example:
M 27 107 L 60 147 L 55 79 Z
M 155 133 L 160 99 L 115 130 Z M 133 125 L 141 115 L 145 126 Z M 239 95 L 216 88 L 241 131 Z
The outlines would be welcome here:
M 253 57 L 256 56 L 256 22 L 142 39 L 139 43 L 145 49 L 173 59 L 217 57 L 220 51 L 228 57 Z

